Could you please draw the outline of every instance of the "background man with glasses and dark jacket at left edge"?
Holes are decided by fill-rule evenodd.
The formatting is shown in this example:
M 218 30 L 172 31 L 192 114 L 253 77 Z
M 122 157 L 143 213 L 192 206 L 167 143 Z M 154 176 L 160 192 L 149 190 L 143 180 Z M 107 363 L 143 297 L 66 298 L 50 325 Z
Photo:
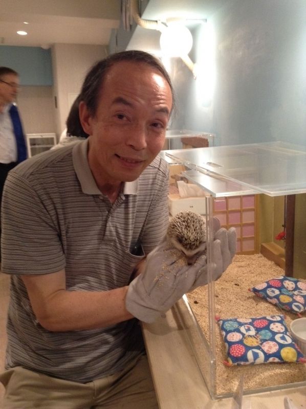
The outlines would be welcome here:
M 18 73 L 0 66 L 0 203 L 8 172 L 27 158 L 23 126 L 18 109 L 13 104 L 18 89 Z

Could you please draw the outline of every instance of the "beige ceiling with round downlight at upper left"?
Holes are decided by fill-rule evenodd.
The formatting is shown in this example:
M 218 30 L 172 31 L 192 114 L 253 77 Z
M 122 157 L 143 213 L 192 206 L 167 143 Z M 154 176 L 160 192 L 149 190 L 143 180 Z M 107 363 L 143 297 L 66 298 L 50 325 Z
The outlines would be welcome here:
M 42 48 L 54 43 L 106 45 L 111 30 L 119 27 L 120 5 L 121 0 L 1 0 L 0 44 Z M 18 30 L 28 35 L 18 35 Z

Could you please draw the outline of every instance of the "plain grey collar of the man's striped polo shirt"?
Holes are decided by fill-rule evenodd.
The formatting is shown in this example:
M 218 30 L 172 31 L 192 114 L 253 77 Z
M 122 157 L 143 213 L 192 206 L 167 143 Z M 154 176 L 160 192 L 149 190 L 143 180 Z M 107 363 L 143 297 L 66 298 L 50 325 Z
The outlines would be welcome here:
M 96 181 L 90 170 L 88 163 L 88 152 L 89 139 L 85 141 L 78 142 L 74 145 L 72 149 L 72 160 L 74 170 L 79 179 L 82 192 L 88 195 L 101 195 L 101 191 L 96 185 Z M 138 191 L 138 179 L 132 182 L 125 182 L 123 188 L 123 194 L 125 195 L 136 195 Z

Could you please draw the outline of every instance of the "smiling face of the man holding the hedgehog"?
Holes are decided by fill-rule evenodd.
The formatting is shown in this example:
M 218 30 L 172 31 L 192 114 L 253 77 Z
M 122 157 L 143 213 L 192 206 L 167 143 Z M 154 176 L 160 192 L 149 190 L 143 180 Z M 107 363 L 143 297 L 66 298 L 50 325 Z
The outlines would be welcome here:
M 98 186 L 137 179 L 163 147 L 171 108 L 170 86 L 158 70 L 130 61 L 111 67 L 96 115 L 80 105 Z

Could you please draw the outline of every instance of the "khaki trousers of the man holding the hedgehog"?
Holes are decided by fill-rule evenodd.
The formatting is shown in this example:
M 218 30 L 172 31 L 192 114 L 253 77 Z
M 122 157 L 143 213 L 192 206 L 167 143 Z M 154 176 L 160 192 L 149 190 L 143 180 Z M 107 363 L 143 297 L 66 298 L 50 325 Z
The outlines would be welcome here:
M 3 409 L 158 409 L 146 356 L 123 371 L 88 383 L 16 367 L 0 374 Z

